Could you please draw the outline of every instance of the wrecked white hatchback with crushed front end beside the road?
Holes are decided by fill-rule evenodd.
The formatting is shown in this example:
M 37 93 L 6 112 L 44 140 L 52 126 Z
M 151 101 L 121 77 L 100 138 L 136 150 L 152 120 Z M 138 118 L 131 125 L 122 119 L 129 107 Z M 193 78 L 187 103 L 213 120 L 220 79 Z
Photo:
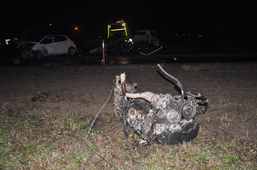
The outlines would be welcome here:
M 47 35 L 32 41 L 23 41 L 17 48 L 21 48 L 19 59 L 36 59 L 59 54 L 74 55 L 77 47 L 74 42 L 64 35 Z

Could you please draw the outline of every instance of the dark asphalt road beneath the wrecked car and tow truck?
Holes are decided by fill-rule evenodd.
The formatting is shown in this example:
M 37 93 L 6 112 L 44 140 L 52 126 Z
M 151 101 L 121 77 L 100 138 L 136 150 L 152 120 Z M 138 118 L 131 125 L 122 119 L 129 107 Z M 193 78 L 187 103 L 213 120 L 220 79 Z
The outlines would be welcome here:
M 18 53 L 0 51 L 1 65 L 91 65 L 91 64 L 147 64 L 147 63 L 212 63 L 212 62 L 256 62 L 257 51 L 249 49 L 224 48 L 162 48 L 152 54 L 144 55 L 139 52 L 127 55 L 91 54 L 87 56 L 53 56 L 42 58 L 38 62 L 22 63 L 17 60 Z M 147 53 L 146 53 L 147 54 Z M 15 64 L 19 62 L 19 64 Z

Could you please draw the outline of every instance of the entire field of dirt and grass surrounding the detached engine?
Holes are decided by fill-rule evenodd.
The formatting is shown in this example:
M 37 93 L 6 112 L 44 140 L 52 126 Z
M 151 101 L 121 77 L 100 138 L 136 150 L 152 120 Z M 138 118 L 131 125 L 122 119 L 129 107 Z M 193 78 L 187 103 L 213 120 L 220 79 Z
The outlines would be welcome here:
M 187 144 L 134 147 L 114 115 L 100 112 L 89 145 L 119 169 L 256 169 L 256 62 L 165 64 L 184 91 L 210 101 L 198 108 L 198 136 Z M 156 64 L 1 66 L 0 169 L 114 169 L 85 136 L 116 75 L 153 93 L 178 95 Z M 139 138 L 128 131 L 129 139 Z

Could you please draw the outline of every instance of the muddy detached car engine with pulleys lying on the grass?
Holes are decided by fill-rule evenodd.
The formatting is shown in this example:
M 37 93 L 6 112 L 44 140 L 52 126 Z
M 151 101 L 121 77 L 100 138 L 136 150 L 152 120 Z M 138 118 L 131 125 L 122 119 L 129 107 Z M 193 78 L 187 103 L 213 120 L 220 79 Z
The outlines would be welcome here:
M 154 140 L 157 144 L 179 144 L 192 141 L 198 134 L 200 124 L 192 122 L 197 113 L 199 103 L 205 105 L 202 111 L 208 108 L 208 100 L 201 94 L 184 92 L 181 83 L 175 77 L 176 85 L 181 95 L 154 94 L 144 90 L 136 90 L 125 82 L 125 73 L 116 76 L 115 115 L 124 125 L 126 138 L 127 126 L 133 128 L 141 139 L 140 144 Z M 139 145 L 139 144 L 134 144 Z

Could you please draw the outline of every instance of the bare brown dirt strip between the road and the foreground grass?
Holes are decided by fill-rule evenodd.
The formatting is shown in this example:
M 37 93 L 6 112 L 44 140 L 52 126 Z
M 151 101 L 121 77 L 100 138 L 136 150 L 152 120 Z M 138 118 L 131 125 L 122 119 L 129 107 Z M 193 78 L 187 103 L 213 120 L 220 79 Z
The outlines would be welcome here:
M 197 113 L 197 121 L 210 135 L 256 143 L 256 64 L 163 64 L 163 68 L 180 80 L 184 91 L 201 93 L 210 101 L 205 114 L 200 109 Z M 23 103 L 46 114 L 78 112 L 90 122 L 109 97 L 116 75 L 123 72 L 126 82 L 137 83 L 138 89 L 179 94 L 157 64 L 1 66 L 0 71 L 1 105 Z M 113 100 L 111 95 L 105 112 L 113 113 Z

